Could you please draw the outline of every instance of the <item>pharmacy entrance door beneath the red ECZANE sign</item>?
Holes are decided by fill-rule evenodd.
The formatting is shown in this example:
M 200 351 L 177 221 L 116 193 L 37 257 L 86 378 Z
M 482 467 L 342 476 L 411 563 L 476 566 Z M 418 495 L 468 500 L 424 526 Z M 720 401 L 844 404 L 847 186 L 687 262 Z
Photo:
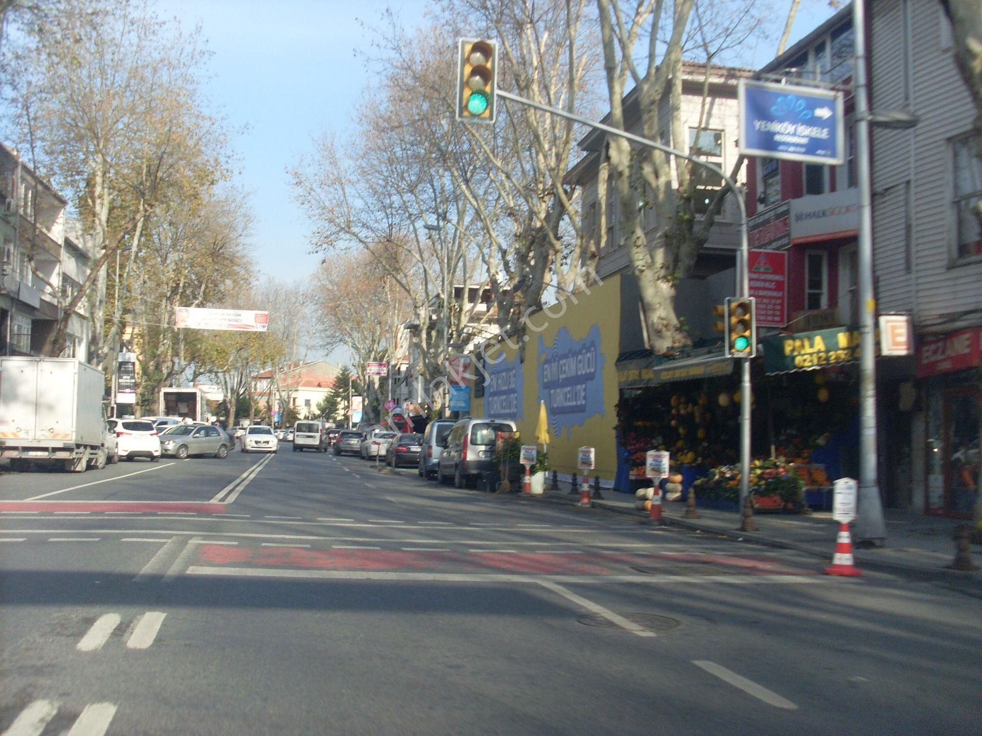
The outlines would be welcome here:
M 979 390 L 945 390 L 945 510 L 970 518 L 979 486 Z

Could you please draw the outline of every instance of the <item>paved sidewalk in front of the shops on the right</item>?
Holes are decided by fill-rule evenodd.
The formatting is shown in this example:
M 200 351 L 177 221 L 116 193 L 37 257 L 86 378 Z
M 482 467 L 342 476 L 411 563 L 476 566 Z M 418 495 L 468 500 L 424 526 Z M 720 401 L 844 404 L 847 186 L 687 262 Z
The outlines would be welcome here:
M 569 493 L 570 484 L 560 483 L 559 491 L 546 494 L 550 499 L 563 499 L 574 503 L 578 495 Z M 648 516 L 647 511 L 634 508 L 634 497 L 617 491 L 604 490 L 602 500 L 593 505 L 638 519 Z M 740 516 L 736 511 L 698 507 L 700 518 L 685 519 L 685 504 L 681 501 L 665 503 L 662 517 L 670 526 L 719 534 L 734 539 L 753 542 L 768 547 L 794 550 L 812 554 L 826 562 L 835 552 L 839 524 L 831 512 L 816 511 L 811 515 L 783 513 L 756 513 L 753 520 L 756 532 L 739 531 Z M 955 558 L 955 542 L 952 533 L 957 524 L 965 521 L 923 516 L 895 509 L 884 511 L 887 522 L 887 541 L 884 547 L 860 550 L 853 545 L 856 566 L 913 576 L 919 579 L 956 581 L 959 587 L 974 590 L 982 597 L 982 547 L 971 545 L 972 561 L 979 567 L 974 572 L 962 572 L 948 567 Z M 966 591 L 967 592 L 967 591 Z

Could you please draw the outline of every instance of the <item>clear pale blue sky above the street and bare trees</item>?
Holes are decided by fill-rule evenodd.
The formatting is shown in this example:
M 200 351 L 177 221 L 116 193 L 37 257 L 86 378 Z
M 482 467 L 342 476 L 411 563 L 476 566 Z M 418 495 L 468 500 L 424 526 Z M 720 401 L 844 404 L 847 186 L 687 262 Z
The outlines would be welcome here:
M 506 1 L 506 0 L 503 0 Z M 776 6 L 791 0 L 776 0 Z M 832 15 L 826 2 L 802 3 L 791 43 Z M 309 275 L 318 257 L 308 253 L 307 225 L 291 198 L 286 168 L 321 131 L 341 132 L 368 73 L 355 50 L 386 7 L 406 25 L 423 20 L 419 0 L 164 0 L 161 18 L 200 24 L 214 53 L 209 94 L 235 128 L 242 173 L 252 192 L 254 257 L 262 273 L 285 281 Z M 783 9 L 787 13 L 787 9 Z M 773 48 L 773 47 L 772 47 Z M 448 53 L 454 53 L 448 49 Z M 762 50 L 763 64 L 770 58 Z

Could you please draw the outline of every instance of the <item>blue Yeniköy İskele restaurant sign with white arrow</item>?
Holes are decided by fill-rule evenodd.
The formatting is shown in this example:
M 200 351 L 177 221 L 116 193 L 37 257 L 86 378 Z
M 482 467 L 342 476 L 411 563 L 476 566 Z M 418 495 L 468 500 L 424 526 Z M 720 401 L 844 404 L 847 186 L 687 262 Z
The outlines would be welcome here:
M 846 163 L 843 93 L 739 81 L 739 152 L 814 164 Z

